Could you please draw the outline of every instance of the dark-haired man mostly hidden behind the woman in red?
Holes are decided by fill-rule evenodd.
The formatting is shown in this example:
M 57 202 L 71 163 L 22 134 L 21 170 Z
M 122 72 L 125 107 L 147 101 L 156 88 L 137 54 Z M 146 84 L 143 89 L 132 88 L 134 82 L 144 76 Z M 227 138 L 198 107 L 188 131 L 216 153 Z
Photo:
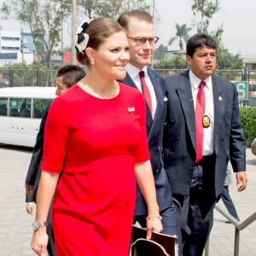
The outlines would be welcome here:
M 73 84 L 76 84 L 80 79 L 83 79 L 85 76 L 84 69 L 82 67 L 78 67 L 75 65 L 68 65 L 61 67 L 57 73 L 56 79 L 56 96 L 60 96 L 64 93 L 68 88 L 70 88 Z M 33 148 L 32 159 L 30 161 L 30 165 L 28 167 L 26 173 L 26 212 L 32 214 L 32 202 L 36 202 L 37 199 L 37 190 L 38 183 L 41 176 L 41 162 L 43 157 L 43 145 L 44 145 L 44 125 L 47 119 L 47 115 L 49 112 L 49 107 L 45 108 L 43 117 L 41 120 L 41 124 L 38 131 L 38 136 L 36 140 L 36 144 Z M 54 234 L 51 225 L 51 209 L 49 209 L 49 215 L 47 218 L 47 234 L 49 236 L 49 243 L 47 247 L 47 251 L 49 256 L 55 255 L 55 240 Z

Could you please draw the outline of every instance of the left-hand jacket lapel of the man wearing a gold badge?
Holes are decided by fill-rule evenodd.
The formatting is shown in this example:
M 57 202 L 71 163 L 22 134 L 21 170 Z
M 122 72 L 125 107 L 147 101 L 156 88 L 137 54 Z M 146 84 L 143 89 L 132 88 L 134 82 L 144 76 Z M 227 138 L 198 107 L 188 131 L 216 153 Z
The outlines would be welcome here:
M 195 108 L 193 96 L 191 91 L 191 84 L 189 82 L 189 72 L 183 75 L 179 87 L 177 87 L 177 95 L 179 96 L 185 121 L 188 126 L 189 136 L 191 138 L 193 147 L 196 147 L 195 136 Z

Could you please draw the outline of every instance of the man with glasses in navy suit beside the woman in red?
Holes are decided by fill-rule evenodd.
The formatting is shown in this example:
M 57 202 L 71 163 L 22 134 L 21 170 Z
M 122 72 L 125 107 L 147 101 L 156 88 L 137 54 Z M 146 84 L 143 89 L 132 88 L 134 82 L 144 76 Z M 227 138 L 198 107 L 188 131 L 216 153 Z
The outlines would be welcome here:
M 153 19 L 147 12 L 133 10 L 120 15 L 118 21 L 121 26 L 125 27 L 130 46 L 130 62 L 127 64 L 127 74 L 122 82 L 137 88 L 145 97 L 143 82 L 140 77 L 140 73 L 143 71 L 143 79 L 150 94 L 150 103 L 148 104 L 145 100 L 146 128 L 163 233 L 177 235 L 179 247 L 181 247 L 177 212 L 172 202 L 172 192 L 162 160 L 162 134 L 166 118 L 166 85 L 159 74 L 147 67 L 153 55 L 154 44 L 158 41 L 158 38 L 154 36 Z M 134 223 L 137 221 L 145 227 L 147 214 L 146 203 L 137 186 Z M 148 218 L 148 220 L 154 221 L 154 218 Z

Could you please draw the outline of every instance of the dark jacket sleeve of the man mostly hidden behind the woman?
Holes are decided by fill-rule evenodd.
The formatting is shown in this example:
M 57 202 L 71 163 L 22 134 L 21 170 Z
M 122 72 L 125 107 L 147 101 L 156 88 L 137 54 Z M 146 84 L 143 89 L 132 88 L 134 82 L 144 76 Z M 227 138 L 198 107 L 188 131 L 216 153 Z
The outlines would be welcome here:
M 44 146 L 44 126 L 49 112 L 49 107 L 44 109 L 43 117 L 40 123 L 38 136 L 36 139 L 35 146 L 32 151 L 32 159 L 26 173 L 25 183 L 33 186 L 33 195 L 26 195 L 27 201 L 36 201 L 36 194 L 38 189 L 39 179 L 41 177 L 41 162 L 43 158 L 43 146 Z

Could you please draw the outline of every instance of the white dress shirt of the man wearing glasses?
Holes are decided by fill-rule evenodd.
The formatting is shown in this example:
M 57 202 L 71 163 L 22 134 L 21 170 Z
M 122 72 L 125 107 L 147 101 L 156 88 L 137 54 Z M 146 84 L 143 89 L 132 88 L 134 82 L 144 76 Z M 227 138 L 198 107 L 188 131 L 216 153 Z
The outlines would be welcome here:
M 148 77 L 147 67 L 143 67 L 143 69 L 140 70 L 137 67 L 132 66 L 130 63 L 128 63 L 126 66 L 126 72 L 129 73 L 131 79 L 136 84 L 137 89 L 143 93 L 143 86 L 142 86 L 142 82 L 141 82 L 141 78 L 140 78 L 140 74 L 139 74 L 140 71 L 144 72 L 145 82 L 146 82 L 146 84 L 148 86 L 148 90 L 150 92 L 151 102 L 152 102 L 152 118 L 154 119 L 155 109 L 157 107 L 157 99 L 156 99 L 155 92 L 154 92 L 154 86 L 153 86 L 150 78 Z

